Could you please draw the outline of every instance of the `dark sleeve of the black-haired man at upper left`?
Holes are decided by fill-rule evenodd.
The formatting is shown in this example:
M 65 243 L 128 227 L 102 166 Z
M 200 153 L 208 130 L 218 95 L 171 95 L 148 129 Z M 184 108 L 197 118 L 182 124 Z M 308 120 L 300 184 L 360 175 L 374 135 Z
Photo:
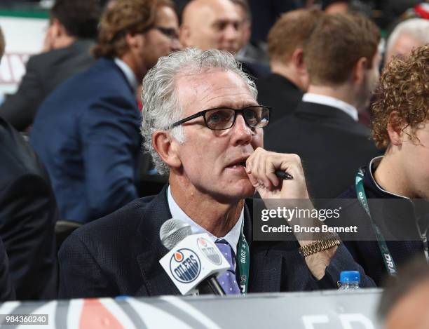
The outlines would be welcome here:
M 18 91 L 6 98 L 0 106 L 0 115 L 16 130 L 25 130 L 33 123 L 37 109 L 46 96 L 38 72 L 39 66 L 35 58 L 29 58 Z

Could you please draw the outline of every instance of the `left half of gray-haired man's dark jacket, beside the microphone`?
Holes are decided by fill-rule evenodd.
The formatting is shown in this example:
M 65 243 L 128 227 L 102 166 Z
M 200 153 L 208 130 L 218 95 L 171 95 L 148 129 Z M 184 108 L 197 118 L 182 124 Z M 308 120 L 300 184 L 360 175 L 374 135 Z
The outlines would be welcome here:
M 177 295 L 158 260 L 159 229 L 171 217 L 166 189 L 74 231 L 62 244 L 60 297 Z

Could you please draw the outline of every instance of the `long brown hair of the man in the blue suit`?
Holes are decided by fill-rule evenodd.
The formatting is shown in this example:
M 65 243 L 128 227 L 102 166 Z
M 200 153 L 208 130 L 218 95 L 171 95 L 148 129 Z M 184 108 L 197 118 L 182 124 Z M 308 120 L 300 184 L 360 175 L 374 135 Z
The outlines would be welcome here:
M 127 33 L 144 33 L 154 25 L 158 6 L 175 8 L 171 0 L 115 1 L 102 15 L 95 58 L 120 57 L 128 50 Z

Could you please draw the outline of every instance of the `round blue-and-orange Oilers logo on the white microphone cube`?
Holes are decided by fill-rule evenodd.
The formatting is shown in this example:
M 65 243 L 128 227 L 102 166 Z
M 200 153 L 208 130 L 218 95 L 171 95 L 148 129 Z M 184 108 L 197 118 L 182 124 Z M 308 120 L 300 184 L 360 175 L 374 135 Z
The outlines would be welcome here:
M 177 281 L 190 283 L 200 274 L 200 258 L 190 249 L 179 249 L 171 257 L 170 271 Z

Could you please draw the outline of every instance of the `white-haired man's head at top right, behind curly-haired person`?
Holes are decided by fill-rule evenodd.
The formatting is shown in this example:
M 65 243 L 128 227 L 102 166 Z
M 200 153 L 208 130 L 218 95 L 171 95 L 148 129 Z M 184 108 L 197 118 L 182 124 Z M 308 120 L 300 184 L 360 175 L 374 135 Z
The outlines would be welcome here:
M 393 56 L 407 57 L 414 48 L 429 43 L 429 20 L 411 18 L 400 22 L 390 34 L 386 46 L 386 62 Z

